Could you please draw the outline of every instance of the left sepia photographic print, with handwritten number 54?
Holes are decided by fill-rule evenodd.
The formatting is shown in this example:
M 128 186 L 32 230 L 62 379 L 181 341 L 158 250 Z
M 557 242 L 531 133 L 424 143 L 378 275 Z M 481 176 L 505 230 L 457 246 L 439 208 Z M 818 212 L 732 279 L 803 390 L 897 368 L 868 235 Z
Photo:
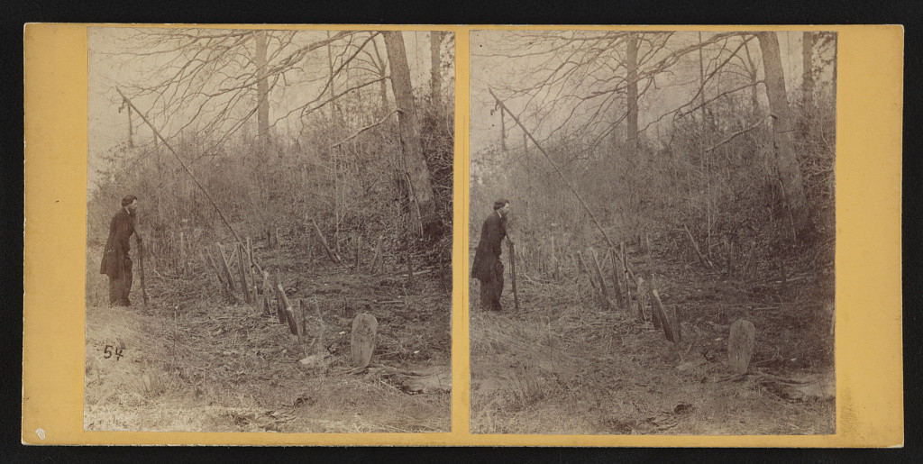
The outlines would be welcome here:
M 90 27 L 86 431 L 450 431 L 455 37 Z

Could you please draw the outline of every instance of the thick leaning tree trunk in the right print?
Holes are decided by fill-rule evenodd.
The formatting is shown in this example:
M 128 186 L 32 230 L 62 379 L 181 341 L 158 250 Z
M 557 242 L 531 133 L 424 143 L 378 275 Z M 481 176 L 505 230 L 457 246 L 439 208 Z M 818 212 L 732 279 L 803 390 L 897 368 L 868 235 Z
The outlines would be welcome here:
M 785 189 L 785 200 L 792 212 L 794 227 L 800 230 L 807 212 L 801 171 L 795 157 L 795 143 L 792 135 L 792 112 L 785 100 L 785 73 L 782 70 L 782 55 L 775 32 L 757 32 L 760 41 L 763 67 L 766 78 L 766 96 L 769 111 L 773 115 L 773 145 L 779 180 Z

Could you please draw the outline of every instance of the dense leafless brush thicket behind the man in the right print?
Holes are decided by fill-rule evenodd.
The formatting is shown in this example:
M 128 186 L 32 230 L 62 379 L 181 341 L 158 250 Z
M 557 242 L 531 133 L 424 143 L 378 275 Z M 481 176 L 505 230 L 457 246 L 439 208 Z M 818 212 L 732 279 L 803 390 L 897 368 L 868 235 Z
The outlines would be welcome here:
M 668 139 L 641 137 L 638 149 L 620 140 L 584 147 L 563 137 L 545 141 L 542 148 L 578 185 L 579 195 L 616 244 L 625 242 L 646 255 L 650 243 L 655 255 L 691 264 L 700 261 L 691 234 L 714 268 L 730 274 L 775 273 L 779 260 L 789 261 L 790 274 L 832 271 L 833 101 L 828 95 L 810 105 L 793 105 L 809 211 L 799 231 L 775 168 L 770 118 L 746 107 L 726 97 L 724 104 L 713 105 L 705 121 L 698 113 L 689 115 L 675 122 Z M 745 122 L 761 117 L 763 124 L 755 128 Z M 527 150 L 488 149 L 472 158 L 472 245 L 493 201 L 508 197 L 513 208 L 509 230 L 518 253 L 525 266 L 533 263 L 542 275 L 556 269 L 553 256 L 564 266 L 578 250 L 608 246 L 532 143 Z

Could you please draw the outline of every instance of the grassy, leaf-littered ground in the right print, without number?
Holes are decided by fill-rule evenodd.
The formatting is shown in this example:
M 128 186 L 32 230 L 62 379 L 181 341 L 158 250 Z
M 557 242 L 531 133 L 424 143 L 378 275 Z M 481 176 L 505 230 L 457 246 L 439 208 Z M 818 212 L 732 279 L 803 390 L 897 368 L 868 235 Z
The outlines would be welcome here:
M 741 280 L 673 256 L 654 262 L 664 304 L 681 320 L 677 345 L 593 301 L 585 275 L 520 273 L 518 313 L 509 275 L 499 313 L 478 307 L 473 280 L 472 432 L 835 433 L 833 269 L 795 272 L 783 285 L 771 269 Z M 731 375 L 726 350 L 739 318 L 757 332 L 742 376 Z

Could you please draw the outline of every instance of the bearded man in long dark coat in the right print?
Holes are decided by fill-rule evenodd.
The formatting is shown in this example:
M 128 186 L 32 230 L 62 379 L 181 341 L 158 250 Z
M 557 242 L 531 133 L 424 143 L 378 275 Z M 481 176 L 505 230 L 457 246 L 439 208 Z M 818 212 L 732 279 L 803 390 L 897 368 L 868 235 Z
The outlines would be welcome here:
M 508 214 L 509 200 L 501 198 L 494 202 L 494 212 L 481 226 L 481 241 L 474 252 L 471 268 L 471 277 L 481 280 L 481 306 L 494 311 L 501 310 L 503 263 L 500 262 L 500 242 L 507 236 Z

